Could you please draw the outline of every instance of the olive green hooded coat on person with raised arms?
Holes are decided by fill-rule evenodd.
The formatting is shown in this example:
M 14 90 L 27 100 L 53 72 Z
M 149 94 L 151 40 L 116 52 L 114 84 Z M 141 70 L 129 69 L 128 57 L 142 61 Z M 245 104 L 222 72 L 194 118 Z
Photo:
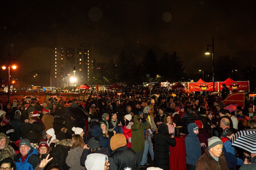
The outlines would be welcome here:
M 143 124 L 140 121 L 137 121 L 138 118 L 141 118 L 141 116 L 135 114 L 133 118 L 134 124 L 131 126 L 131 148 L 135 152 L 142 152 L 144 151 L 145 146 L 144 129 L 149 129 L 150 124 L 148 123 L 148 121 Z

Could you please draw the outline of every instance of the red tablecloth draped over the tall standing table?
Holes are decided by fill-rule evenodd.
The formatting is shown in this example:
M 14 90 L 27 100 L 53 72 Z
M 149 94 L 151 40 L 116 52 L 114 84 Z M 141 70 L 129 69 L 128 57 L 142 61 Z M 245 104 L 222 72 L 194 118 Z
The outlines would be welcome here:
M 170 146 L 170 170 L 187 170 L 185 149 L 186 136 L 187 135 L 181 135 L 179 137 L 175 137 L 176 146 Z

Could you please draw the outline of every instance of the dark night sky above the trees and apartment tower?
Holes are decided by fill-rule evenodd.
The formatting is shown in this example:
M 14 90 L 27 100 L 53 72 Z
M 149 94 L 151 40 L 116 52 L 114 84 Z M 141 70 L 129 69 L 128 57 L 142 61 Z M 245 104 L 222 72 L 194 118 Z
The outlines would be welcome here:
M 93 21 L 100 16 L 94 7 L 102 12 L 99 21 Z M 25 74 L 49 67 L 58 44 L 90 44 L 98 61 L 115 59 L 122 50 L 141 61 L 153 48 L 158 58 L 177 51 L 190 74 L 197 72 L 199 56 L 214 36 L 216 58 L 230 55 L 251 67 L 256 63 L 255 7 L 254 0 L 2 0 L 0 59 L 11 52 Z M 172 15 L 169 22 L 163 20 L 165 12 Z M 34 64 L 28 67 L 31 58 Z M 212 59 L 201 58 L 210 71 Z

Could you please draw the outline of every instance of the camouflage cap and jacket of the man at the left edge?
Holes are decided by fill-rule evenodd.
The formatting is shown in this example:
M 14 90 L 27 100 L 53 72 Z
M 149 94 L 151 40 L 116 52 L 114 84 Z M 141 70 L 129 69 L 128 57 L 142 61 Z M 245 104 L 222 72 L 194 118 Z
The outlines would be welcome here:
M 6 139 L 6 143 L 5 148 L 0 150 L 0 161 L 7 157 L 11 157 L 13 159 L 16 156 L 16 152 L 13 147 L 8 145 L 10 142 L 9 138 L 4 133 L 0 133 L 0 141 L 4 138 Z

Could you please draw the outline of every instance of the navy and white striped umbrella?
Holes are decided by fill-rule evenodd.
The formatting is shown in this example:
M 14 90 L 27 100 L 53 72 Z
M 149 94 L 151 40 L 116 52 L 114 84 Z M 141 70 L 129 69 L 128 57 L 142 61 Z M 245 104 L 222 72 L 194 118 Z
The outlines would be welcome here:
M 256 153 L 256 130 L 249 129 L 239 131 L 231 138 L 232 145 L 247 150 L 250 153 Z

